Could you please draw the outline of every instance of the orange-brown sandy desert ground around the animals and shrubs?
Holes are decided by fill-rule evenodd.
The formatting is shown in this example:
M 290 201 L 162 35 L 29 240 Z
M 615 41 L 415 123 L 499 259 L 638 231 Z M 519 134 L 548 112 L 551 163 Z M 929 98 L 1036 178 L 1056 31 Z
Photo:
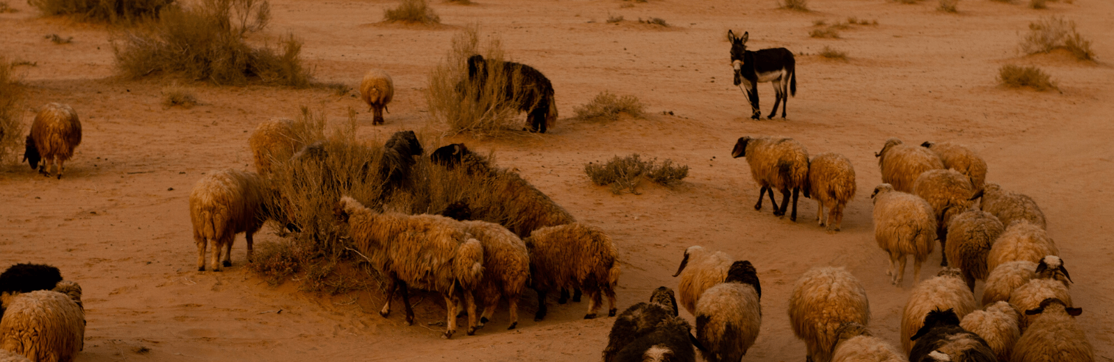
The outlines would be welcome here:
M 505 309 L 477 335 L 442 340 L 443 303 L 419 297 L 414 326 L 401 313 L 375 311 L 382 295 L 355 292 L 323 296 L 278 287 L 244 267 L 243 236 L 235 265 L 198 273 L 187 209 L 190 186 L 202 173 L 251 168 L 250 130 L 262 120 L 292 117 L 299 105 L 344 120 L 360 109 L 360 137 L 385 139 L 401 129 L 438 133 L 428 123 L 427 72 L 452 35 L 480 22 L 501 38 L 508 56 L 548 76 L 563 117 L 603 90 L 635 95 L 651 116 L 615 123 L 561 119 L 550 134 L 511 140 L 466 141 L 494 149 L 500 165 L 525 178 L 580 221 L 598 225 L 623 257 L 619 309 L 641 302 L 654 287 L 676 287 L 671 277 L 690 245 L 725 251 L 758 267 L 763 325 L 745 361 L 801 361 L 785 313 L 793 282 L 815 266 L 843 266 L 867 288 L 871 329 L 898 345 L 908 280 L 892 286 L 887 256 L 873 241 L 870 193 L 880 183 L 873 153 L 890 137 L 908 143 L 950 140 L 971 146 L 989 164 L 988 182 L 1033 196 L 1047 215 L 1084 309 L 1077 317 L 1097 361 L 1114 359 L 1114 266 L 1110 221 L 1114 207 L 1114 2 L 1049 2 L 1046 10 L 989 0 L 959 2 L 958 14 L 935 1 L 813 0 L 811 12 L 776 8 L 773 0 L 478 0 L 472 6 L 434 2 L 446 25 L 438 28 L 380 26 L 383 0 L 272 0 L 267 33 L 287 31 L 305 41 L 303 56 L 322 81 L 355 86 L 369 68 L 387 69 L 397 94 L 384 126 L 372 126 L 358 98 L 329 90 L 190 85 L 202 100 L 192 109 L 164 108 L 168 80 L 125 81 L 114 76 L 109 29 L 65 18 L 42 18 L 23 1 L 0 13 L 0 52 L 37 62 L 18 67 L 31 107 L 71 105 L 81 116 L 85 140 L 66 178 L 35 174 L 26 165 L 0 168 L 0 266 L 49 263 L 85 290 L 88 329 L 78 361 L 595 361 L 606 345 L 612 317 L 583 320 L 586 302 L 550 307 L 534 322 L 527 293 L 517 330 L 504 330 Z M 1043 16 L 1064 16 L 1094 40 L 1097 62 L 1066 53 L 1022 56 L 1018 41 Z M 663 18 L 662 29 L 627 20 Z M 877 26 L 841 31 L 840 39 L 810 38 L 813 20 L 858 17 Z M 798 94 L 785 120 L 751 120 L 733 87 L 727 29 L 750 31 L 752 48 L 786 47 L 798 55 Z M 53 45 L 43 36 L 74 37 Z M 830 46 L 847 61 L 815 56 Z M 1037 65 L 1058 91 L 1005 89 L 997 69 Z M 763 111 L 772 104 L 762 85 Z M 662 115 L 673 111 L 674 116 Z M 525 118 L 525 115 L 524 115 Z M 802 198 L 797 223 L 755 212 L 758 194 L 745 160 L 730 149 L 744 135 L 782 135 L 809 151 L 848 156 L 858 174 L 858 195 L 843 231 L 817 226 L 815 204 Z M 676 188 L 644 186 L 642 195 L 612 195 L 584 175 L 588 162 L 642 153 L 691 166 Z M 768 204 L 769 205 L 769 204 Z M 256 241 L 278 239 L 266 228 Z M 937 248 L 939 250 L 939 248 Z M 938 270 L 935 253 L 922 272 Z M 976 290 L 981 291 L 981 283 Z M 978 294 L 977 294 L 978 295 Z M 282 310 L 281 313 L 273 311 Z M 267 313 L 270 312 L 270 313 Z M 693 321 L 692 315 L 682 315 Z M 149 352 L 138 353 L 140 348 Z

